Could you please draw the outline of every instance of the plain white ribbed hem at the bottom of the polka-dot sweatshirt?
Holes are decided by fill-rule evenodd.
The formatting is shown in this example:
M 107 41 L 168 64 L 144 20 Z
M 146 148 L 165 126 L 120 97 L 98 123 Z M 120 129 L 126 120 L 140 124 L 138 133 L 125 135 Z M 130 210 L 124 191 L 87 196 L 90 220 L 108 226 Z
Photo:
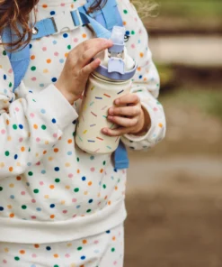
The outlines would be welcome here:
M 46 244 L 72 241 L 98 235 L 120 225 L 126 218 L 124 199 L 104 207 L 90 216 L 59 222 L 33 222 L 0 218 L 0 242 Z

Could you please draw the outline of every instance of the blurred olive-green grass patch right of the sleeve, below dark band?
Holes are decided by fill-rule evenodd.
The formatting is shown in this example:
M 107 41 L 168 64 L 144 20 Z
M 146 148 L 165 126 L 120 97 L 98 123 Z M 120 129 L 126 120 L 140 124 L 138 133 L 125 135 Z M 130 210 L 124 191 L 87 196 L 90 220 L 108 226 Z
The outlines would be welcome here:
M 202 112 L 218 117 L 222 122 L 222 92 L 219 90 L 178 88 L 175 93 L 161 97 L 160 101 L 164 103 L 172 98 L 181 105 L 197 106 Z

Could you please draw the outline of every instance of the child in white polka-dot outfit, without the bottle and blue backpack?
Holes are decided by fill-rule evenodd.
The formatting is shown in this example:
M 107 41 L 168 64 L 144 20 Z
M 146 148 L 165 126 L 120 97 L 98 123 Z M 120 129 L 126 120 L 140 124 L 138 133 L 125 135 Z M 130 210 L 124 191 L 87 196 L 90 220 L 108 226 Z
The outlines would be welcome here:
M 71 2 L 0 0 L 0 32 L 17 22 L 27 31 L 30 14 L 40 21 L 85 4 Z M 118 8 L 138 69 L 131 94 L 109 110 L 120 128 L 102 133 L 142 150 L 164 138 L 159 77 L 136 9 L 129 0 Z M 100 64 L 91 59 L 111 44 L 88 27 L 32 40 L 30 66 L 14 93 L 0 45 L 0 266 L 123 266 L 126 170 L 115 170 L 111 154 L 81 151 L 74 138 L 80 96 Z

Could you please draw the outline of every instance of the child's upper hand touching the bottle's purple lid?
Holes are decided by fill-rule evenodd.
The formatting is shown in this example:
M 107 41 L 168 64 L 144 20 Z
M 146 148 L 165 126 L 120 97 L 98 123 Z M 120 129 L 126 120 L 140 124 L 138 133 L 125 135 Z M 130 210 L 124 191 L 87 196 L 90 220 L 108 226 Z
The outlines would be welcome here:
M 100 51 L 110 48 L 111 40 L 94 38 L 83 41 L 69 52 L 67 61 L 55 86 L 70 104 L 81 97 L 89 75 L 100 65 L 99 59 L 91 60 Z

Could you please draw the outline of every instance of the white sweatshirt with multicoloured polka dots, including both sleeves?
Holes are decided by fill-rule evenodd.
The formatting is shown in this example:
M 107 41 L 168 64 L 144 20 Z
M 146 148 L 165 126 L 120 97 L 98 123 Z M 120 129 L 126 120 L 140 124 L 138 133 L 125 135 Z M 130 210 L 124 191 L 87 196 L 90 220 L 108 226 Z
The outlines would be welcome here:
M 109 0 L 108 0 L 109 1 Z M 40 0 L 37 20 L 73 10 L 85 0 Z M 147 32 L 129 0 L 118 6 L 137 61 L 132 92 L 151 117 L 143 136 L 122 141 L 147 150 L 164 138 L 164 110 L 156 100 L 159 76 Z M 87 27 L 31 41 L 31 62 L 13 93 L 13 70 L 0 46 L 0 242 L 65 242 L 102 233 L 126 217 L 126 170 L 111 154 L 91 155 L 75 144 L 81 99 L 71 106 L 54 86 L 69 51 L 93 38 Z

